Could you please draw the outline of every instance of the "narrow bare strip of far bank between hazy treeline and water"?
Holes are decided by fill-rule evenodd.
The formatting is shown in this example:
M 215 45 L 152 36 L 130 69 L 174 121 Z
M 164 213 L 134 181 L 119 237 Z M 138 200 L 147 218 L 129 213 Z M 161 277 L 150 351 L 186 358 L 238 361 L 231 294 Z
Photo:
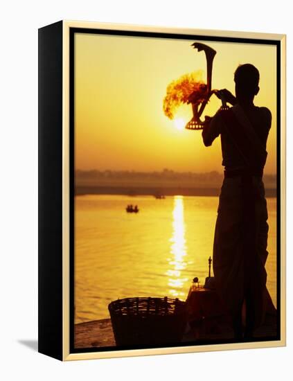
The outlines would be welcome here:
M 187 187 L 130 187 L 130 186 L 78 186 L 76 196 L 79 195 L 127 195 L 127 196 L 206 196 L 216 197 L 220 195 L 220 188 L 187 188 Z M 276 197 L 275 188 L 267 188 L 265 197 Z

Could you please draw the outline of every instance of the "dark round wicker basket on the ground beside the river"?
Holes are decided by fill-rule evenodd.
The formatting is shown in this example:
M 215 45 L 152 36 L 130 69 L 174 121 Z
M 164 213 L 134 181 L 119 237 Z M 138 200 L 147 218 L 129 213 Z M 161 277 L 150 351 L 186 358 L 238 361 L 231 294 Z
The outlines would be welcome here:
M 186 303 L 179 299 L 125 298 L 109 303 L 116 345 L 180 342 L 186 326 Z

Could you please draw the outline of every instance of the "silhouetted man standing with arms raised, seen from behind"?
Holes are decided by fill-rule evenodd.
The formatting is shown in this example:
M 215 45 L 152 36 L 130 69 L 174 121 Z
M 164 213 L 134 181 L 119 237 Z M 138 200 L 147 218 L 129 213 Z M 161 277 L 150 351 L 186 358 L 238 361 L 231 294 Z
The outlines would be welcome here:
M 220 193 L 213 245 L 213 272 L 217 291 L 233 319 L 234 334 L 242 339 L 263 321 L 267 301 L 267 203 L 263 168 L 272 116 L 266 107 L 256 107 L 259 73 L 244 64 L 234 74 L 236 98 L 224 97 L 233 107 L 221 109 L 207 121 L 204 145 L 220 135 L 224 181 Z

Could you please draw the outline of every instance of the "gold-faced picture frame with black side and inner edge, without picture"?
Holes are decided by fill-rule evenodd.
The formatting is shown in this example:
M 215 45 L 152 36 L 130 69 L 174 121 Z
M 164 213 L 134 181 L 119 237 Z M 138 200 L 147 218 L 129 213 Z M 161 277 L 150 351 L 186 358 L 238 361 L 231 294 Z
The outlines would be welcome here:
M 74 347 L 74 114 L 72 80 L 75 33 L 141 36 L 255 44 L 276 47 L 277 131 L 277 310 L 278 334 L 271 340 L 181 343 L 137 348 Z M 39 352 L 58 360 L 159 355 L 285 346 L 285 35 L 59 21 L 39 29 Z M 166 83 L 168 85 L 168 83 Z M 191 133 L 191 132 L 190 132 Z M 197 132 L 194 132 L 196 134 Z M 193 132 L 192 132 L 193 134 Z

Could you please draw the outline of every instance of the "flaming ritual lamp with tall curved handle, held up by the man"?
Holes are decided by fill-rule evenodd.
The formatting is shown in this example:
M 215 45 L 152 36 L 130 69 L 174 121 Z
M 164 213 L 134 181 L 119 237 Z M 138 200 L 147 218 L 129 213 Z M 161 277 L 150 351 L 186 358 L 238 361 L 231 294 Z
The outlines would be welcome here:
M 202 112 L 204 112 L 204 108 L 212 94 L 217 93 L 216 90 L 211 89 L 213 58 L 217 52 L 199 42 L 195 42 L 192 46 L 197 51 L 204 51 L 206 54 L 206 83 L 201 80 L 198 71 L 181 76 L 179 80 L 171 82 L 167 87 L 167 94 L 163 100 L 163 111 L 168 118 L 172 119 L 175 109 L 180 104 L 191 104 L 193 118 L 190 119 L 185 128 L 187 130 L 202 130 L 204 127 L 204 121 L 200 119 Z

